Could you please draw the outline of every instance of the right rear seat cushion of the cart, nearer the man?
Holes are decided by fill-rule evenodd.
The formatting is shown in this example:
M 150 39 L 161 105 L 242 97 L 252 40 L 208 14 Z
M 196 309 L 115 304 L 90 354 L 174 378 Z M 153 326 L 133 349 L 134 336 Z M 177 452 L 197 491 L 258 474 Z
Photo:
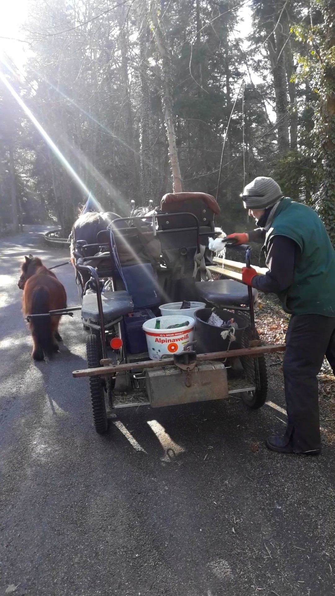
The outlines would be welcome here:
M 249 306 L 248 288 L 239 281 L 198 281 L 196 288 L 200 298 L 217 306 Z M 258 299 L 258 291 L 252 288 L 252 294 L 255 304 Z

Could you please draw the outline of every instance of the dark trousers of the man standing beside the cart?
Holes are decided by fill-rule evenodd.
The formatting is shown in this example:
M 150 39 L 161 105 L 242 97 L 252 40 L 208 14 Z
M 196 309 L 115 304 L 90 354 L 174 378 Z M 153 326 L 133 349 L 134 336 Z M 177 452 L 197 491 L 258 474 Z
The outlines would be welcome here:
M 324 356 L 335 374 L 335 316 L 292 315 L 283 371 L 288 418 L 285 436 L 296 453 L 321 448 L 317 375 Z

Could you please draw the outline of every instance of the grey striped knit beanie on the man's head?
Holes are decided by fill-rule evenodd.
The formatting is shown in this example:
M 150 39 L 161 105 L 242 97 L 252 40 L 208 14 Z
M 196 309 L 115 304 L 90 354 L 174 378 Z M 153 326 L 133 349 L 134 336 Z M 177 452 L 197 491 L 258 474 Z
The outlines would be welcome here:
M 246 209 L 266 209 L 283 197 L 283 193 L 273 178 L 258 176 L 246 185 L 241 197 Z

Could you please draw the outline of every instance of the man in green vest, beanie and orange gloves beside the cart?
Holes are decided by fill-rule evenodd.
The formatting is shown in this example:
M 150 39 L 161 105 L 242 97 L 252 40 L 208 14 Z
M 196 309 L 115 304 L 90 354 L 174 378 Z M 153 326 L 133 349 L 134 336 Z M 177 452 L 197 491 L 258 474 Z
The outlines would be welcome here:
M 317 213 L 283 197 L 277 182 L 259 176 L 247 184 L 244 207 L 257 229 L 231 234 L 237 244 L 262 242 L 266 275 L 243 268 L 245 284 L 277 294 L 291 315 L 286 334 L 284 381 L 287 429 L 266 439 L 280 453 L 321 451 L 318 380 L 324 356 L 335 374 L 335 252 Z

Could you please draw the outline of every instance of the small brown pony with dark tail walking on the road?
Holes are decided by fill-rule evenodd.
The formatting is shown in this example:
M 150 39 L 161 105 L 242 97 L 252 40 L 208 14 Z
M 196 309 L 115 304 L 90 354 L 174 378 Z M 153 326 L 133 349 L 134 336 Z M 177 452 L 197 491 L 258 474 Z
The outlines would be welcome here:
M 24 257 L 21 265 L 21 277 L 18 287 L 23 290 L 23 314 L 41 315 L 49 311 L 66 308 L 66 291 L 50 269 L 46 269 L 41 259 Z M 41 316 L 30 319 L 29 329 L 33 338 L 34 360 L 43 360 L 44 354 L 52 356 L 58 352 L 61 336 L 58 333 L 60 316 Z

